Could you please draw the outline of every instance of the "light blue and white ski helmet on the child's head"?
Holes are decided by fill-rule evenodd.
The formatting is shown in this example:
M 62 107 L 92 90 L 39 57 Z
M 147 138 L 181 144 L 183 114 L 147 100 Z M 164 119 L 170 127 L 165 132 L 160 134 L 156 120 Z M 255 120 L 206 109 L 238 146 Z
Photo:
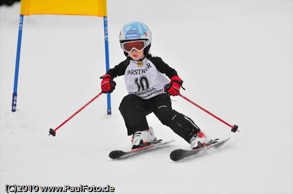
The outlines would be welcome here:
M 146 46 L 151 43 L 151 32 L 146 24 L 140 21 L 131 21 L 122 27 L 119 35 L 119 42 L 122 43 L 133 40 L 147 40 Z

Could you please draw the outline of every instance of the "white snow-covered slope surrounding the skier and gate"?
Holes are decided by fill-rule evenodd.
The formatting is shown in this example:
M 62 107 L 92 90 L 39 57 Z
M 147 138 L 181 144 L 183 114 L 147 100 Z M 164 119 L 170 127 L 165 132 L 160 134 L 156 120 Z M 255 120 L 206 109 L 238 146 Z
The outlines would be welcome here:
M 212 138 L 232 137 L 223 149 L 173 162 L 187 142 L 147 116 L 155 134 L 176 141 L 131 159 L 119 113 L 124 78 L 115 81 L 112 115 L 98 94 L 105 73 L 103 19 L 24 17 L 17 112 L 11 112 L 20 3 L 0 7 L 0 193 L 6 184 L 109 184 L 115 193 L 293 193 L 293 1 L 109 0 L 110 67 L 125 59 L 118 43 L 126 22 L 145 22 L 151 51 L 184 80 L 182 94 L 240 133 L 180 97 L 173 108 Z

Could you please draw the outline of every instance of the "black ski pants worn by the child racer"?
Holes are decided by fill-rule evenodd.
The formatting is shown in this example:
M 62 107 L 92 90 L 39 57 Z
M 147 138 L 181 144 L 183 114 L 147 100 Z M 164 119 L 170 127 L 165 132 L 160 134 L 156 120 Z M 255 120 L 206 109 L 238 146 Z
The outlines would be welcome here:
M 161 123 L 169 126 L 188 143 L 190 138 L 200 130 L 190 118 L 172 109 L 170 96 L 167 93 L 148 100 L 129 94 L 123 98 L 119 110 L 125 121 L 128 135 L 148 129 L 146 115 L 152 112 Z

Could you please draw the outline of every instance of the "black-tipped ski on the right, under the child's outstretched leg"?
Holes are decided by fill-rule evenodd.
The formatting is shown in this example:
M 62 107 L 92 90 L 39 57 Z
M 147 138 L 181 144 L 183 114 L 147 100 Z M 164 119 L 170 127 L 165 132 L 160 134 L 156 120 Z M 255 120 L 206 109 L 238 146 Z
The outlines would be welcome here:
M 211 144 L 202 147 L 202 148 L 198 148 L 198 149 L 194 149 L 194 150 L 184 150 L 184 149 L 177 149 L 174 150 L 170 153 L 170 159 L 173 161 L 178 161 L 180 159 L 184 159 L 188 156 L 193 156 L 196 155 L 200 152 L 204 152 L 206 150 L 209 150 L 210 148 L 218 148 L 220 146 L 222 146 L 224 143 L 226 143 L 228 140 L 230 140 L 230 138 L 223 140 L 223 141 L 218 141 L 219 139 L 216 139 L 214 141 L 211 142 Z

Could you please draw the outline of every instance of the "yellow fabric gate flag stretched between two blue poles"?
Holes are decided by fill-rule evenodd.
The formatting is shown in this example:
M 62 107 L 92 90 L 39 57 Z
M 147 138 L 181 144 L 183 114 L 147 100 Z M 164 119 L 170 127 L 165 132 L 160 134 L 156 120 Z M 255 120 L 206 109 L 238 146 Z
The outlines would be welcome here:
M 21 0 L 21 15 L 107 16 L 106 0 Z

